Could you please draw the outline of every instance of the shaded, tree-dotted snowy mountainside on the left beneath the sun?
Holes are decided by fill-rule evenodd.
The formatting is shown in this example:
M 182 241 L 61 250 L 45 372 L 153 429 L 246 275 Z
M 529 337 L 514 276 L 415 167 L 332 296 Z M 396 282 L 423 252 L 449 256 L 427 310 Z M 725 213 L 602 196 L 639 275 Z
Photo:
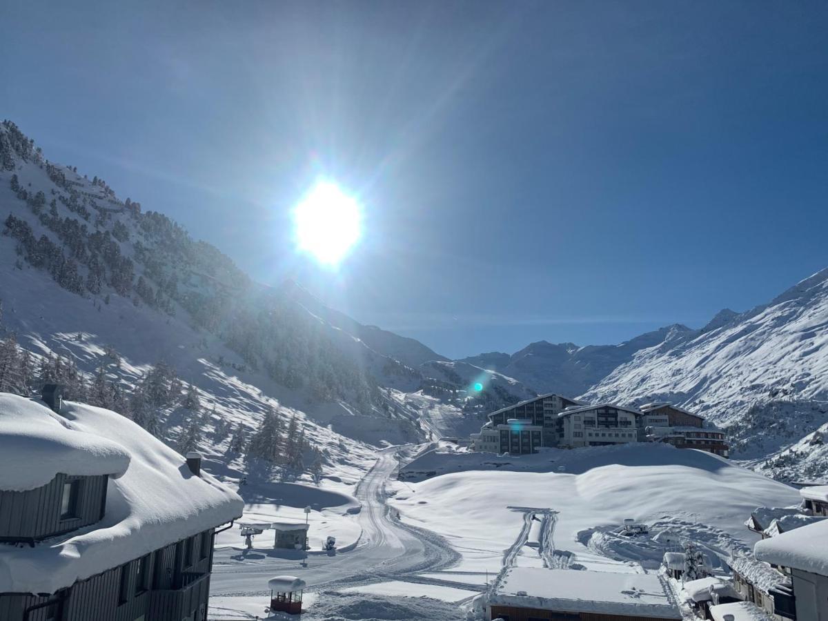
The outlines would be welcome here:
M 165 215 L 48 161 L 10 122 L 0 124 L 0 223 L 0 339 L 60 354 L 88 383 L 100 376 L 120 409 L 163 361 L 202 392 L 216 424 L 252 433 L 275 407 L 306 421 L 325 460 L 359 461 L 363 443 L 426 440 L 452 431 L 452 417 L 476 421 L 531 394 L 479 368 L 445 373 L 431 366 L 445 357 L 361 325 L 294 282 L 253 282 Z M 492 389 L 470 394 L 475 381 Z M 188 415 L 166 409 L 174 442 Z M 217 459 L 229 443 L 218 436 L 201 440 Z

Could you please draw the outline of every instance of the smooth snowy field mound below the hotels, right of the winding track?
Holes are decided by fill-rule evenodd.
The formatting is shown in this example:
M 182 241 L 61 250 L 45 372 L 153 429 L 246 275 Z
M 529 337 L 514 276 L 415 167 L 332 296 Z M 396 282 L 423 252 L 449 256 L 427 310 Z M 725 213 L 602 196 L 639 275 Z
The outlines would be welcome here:
M 726 556 L 731 546 L 756 541 L 744 527 L 754 508 L 799 502 L 785 484 L 715 455 L 667 445 L 556 451 L 513 457 L 513 465 L 500 467 L 491 457 L 481 461 L 484 469 L 473 469 L 478 455 L 426 454 L 408 469 L 425 464 L 460 471 L 393 486 L 389 503 L 402 520 L 440 534 L 463 556 L 452 570 L 496 574 L 510 552 L 525 557 L 521 564 L 549 565 L 537 549 L 519 542 L 527 513 L 553 513 L 553 563 L 618 571 L 642 570 L 642 562 L 652 564 L 666 550 L 652 538 L 631 542 L 614 534 L 625 518 L 654 525 L 652 537 L 660 531 L 698 537 Z M 504 471 L 516 463 L 527 471 Z

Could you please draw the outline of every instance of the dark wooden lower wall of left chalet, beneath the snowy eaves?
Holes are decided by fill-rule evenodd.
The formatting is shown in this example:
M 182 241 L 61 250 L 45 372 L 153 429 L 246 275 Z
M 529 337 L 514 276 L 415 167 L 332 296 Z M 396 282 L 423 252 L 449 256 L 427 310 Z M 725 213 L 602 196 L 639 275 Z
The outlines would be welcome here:
M 194 621 L 206 619 L 209 599 L 209 572 L 212 569 L 214 529 L 191 537 L 193 558 L 184 557 L 185 542 L 172 543 L 142 556 L 148 562 L 146 590 L 138 587 L 138 561 L 80 580 L 69 589 L 50 597 L 0 594 L 0 620 L 47 621 L 48 608 L 32 606 L 53 600 L 60 605 L 60 621 L 181 621 L 195 614 Z M 201 544 L 205 542 L 205 548 Z M 121 599 L 122 572 L 126 573 Z M 28 611 L 28 615 L 26 613 Z

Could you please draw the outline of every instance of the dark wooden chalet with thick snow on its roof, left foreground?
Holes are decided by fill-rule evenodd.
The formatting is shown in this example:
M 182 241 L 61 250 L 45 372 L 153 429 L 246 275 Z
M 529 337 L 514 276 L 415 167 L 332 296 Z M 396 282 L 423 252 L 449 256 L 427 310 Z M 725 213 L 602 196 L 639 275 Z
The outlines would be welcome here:
M 214 534 L 242 499 L 199 455 L 44 397 L 0 393 L 0 619 L 205 621 Z

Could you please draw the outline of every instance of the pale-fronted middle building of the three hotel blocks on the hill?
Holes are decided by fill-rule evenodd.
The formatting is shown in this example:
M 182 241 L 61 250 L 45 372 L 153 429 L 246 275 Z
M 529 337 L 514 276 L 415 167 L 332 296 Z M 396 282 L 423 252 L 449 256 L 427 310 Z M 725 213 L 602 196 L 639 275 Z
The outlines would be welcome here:
M 640 413 L 613 403 L 567 407 L 556 416 L 557 445 L 575 448 L 637 442 L 635 419 Z

